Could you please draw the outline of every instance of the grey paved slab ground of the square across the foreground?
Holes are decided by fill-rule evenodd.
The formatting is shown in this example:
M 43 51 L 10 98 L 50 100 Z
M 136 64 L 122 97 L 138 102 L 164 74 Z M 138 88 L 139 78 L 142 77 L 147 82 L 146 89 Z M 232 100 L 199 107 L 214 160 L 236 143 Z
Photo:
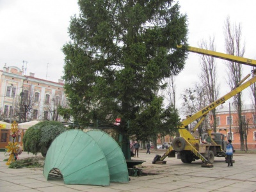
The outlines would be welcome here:
M 235 154 L 233 167 L 228 167 L 224 157 L 215 157 L 214 167 L 202 168 L 202 161 L 184 164 L 177 158 L 166 158 L 166 164 L 152 164 L 156 154 L 163 155 L 164 150 L 155 152 L 141 150 L 139 157 L 145 163 L 137 166 L 143 170 L 143 176 L 130 177 L 129 183 L 113 183 L 109 186 L 67 185 L 63 179 L 46 180 L 43 168 L 10 169 L 3 161 L 7 157 L 0 152 L 0 191 L 256 191 L 256 155 Z M 23 152 L 20 158 L 33 156 Z M 144 174 L 148 174 L 144 176 Z

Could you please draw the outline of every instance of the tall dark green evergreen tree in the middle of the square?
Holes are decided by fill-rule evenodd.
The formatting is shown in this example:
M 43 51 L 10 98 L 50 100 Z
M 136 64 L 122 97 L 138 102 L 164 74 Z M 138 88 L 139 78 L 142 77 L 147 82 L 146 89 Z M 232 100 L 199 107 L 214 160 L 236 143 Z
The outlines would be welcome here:
M 125 146 L 129 135 L 145 140 L 145 135 L 157 132 L 152 124 L 163 123 L 163 99 L 154 92 L 164 87 L 165 77 L 184 68 L 186 15 L 170 0 L 78 4 L 80 14 L 72 17 L 68 29 L 72 41 L 63 46 L 63 77 L 72 115 L 84 124 L 111 124 L 120 117 L 118 131 L 126 138 Z M 182 49 L 176 49 L 177 44 Z

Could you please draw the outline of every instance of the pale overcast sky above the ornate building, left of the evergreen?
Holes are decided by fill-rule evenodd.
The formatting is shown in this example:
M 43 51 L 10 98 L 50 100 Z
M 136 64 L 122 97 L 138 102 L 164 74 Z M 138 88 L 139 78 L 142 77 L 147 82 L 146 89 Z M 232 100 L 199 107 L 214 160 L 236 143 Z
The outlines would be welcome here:
M 26 74 L 58 81 L 63 72 L 61 47 L 68 42 L 70 16 L 79 13 L 71 0 L 0 0 L 0 65 L 22 67 Z

